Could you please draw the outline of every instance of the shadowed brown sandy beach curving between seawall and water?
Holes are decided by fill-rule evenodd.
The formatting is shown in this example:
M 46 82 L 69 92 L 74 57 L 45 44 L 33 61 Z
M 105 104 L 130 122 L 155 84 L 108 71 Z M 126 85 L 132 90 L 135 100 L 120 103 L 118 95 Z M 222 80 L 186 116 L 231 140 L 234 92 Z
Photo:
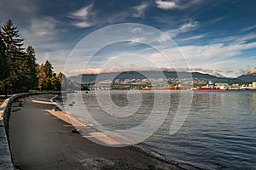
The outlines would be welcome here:
M 131 147 L 91 142 L 49 101 L 53 96 L 29 96 L 13 104 L 9 140 L 17 169 L 182 169 Z

